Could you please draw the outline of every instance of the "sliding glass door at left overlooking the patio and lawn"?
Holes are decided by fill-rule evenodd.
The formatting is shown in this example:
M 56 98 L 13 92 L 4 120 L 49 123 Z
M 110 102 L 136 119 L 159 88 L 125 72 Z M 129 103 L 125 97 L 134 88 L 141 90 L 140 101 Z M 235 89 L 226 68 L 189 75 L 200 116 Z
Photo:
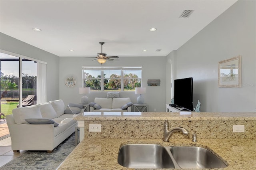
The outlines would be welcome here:
M 42 63 L 40 63 L 40 68 L 42 68 Z M 38 69 L 37 61 L 0 53 L 0 71 L 0 113 L 10 115 L 12 114 L 12 109 L 16 107 L 37 103 L 37 74 L 39 72 L 42 75 L 42 71 Z M 42 81 L 45 82 L 45 73 L 40 77 L 39 82 Z M 45 87 L 42 87 L 41 83 L 39 88 L 42 91 L 41 88 Z M 41 101 L 44 100 L 45 94 L 42 96 L 40 96 Z

